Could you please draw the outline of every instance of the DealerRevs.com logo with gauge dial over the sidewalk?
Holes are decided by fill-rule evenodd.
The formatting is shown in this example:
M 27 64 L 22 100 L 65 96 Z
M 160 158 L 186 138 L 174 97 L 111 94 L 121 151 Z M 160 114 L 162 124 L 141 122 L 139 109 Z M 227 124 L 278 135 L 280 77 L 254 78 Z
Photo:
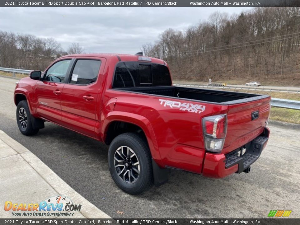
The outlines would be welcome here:
M 6 201 L 5 211 L 12 211 L 12 216 L 73 216 L 80 211 L 81 205 L 73 204 L 65 196 L 53 196 L 39 203 L 16 203 Z

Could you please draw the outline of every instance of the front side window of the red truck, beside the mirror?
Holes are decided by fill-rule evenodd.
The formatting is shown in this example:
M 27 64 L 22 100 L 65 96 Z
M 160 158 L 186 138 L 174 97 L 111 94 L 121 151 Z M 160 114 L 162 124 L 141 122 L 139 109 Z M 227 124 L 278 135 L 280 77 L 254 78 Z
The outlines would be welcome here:
M 46 73 L 45 81 L 51 81 L 55 83 L 63 83 L 66 77 L 68 68 L 70 66 L 71 60 L 62 60 L 53 64 Z

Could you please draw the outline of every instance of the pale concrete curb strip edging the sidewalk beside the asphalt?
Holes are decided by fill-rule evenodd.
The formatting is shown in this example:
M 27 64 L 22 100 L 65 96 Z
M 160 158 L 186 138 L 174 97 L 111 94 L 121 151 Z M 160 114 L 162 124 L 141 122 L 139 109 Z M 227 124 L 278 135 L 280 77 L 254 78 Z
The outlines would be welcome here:
M 39 158 L 37 158 L 37 156 L 9 137 L 2 130 L 0 130 L 0 139 L 19 153 L 19 155 L 38 173 L 38 175 L 41 176 L 56 192 L 58 192 L 58 194 L 70 197 L 74 204 L 84 205 L 83 209 L 79 211 L 84 217 L 111 218 L 58 177 L 58 175 Z

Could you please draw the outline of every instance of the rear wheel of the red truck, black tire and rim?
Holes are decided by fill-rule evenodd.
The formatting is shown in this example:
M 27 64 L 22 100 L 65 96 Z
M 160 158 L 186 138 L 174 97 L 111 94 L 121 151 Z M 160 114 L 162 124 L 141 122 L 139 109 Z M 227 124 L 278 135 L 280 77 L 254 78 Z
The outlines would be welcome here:
M 123 133 L 113 139 L 108 167 L 114 182 L 128 194 L 142 193 L 153 182 L 148 143 L 136 133 Z

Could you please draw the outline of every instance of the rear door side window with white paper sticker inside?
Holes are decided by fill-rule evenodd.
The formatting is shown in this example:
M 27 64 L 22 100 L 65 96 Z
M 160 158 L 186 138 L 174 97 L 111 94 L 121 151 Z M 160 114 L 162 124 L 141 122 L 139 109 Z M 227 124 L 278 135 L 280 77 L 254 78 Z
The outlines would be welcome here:
M 77 60 L 71 76 L 71 84 L 91 84 L 98 78 L 101 61 L 92 59 Z

